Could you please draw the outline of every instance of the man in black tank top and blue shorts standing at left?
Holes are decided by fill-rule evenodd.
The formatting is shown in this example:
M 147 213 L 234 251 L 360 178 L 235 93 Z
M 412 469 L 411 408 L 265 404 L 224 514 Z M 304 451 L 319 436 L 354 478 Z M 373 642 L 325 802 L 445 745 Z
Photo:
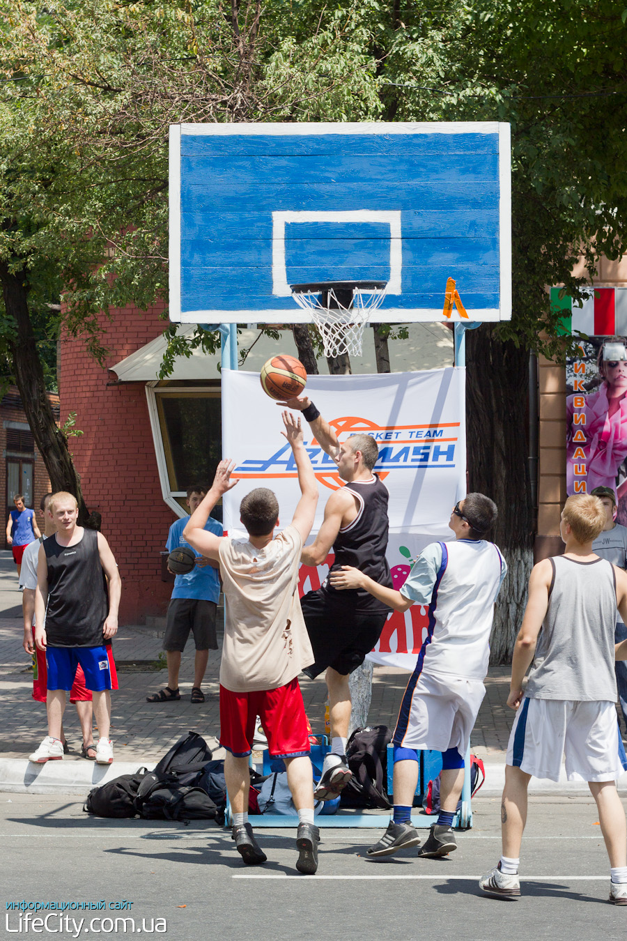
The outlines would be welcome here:
M 102 533 L 77 525 L 78 505 L 71 493 L 53 494 L 47 512 L 55 518 L 56 533 L 39 547 L 35 643 L 46 653 L 48 735 L 28 759 L 40 764 L 63 758 L 66 695 L 80 663 L 100 734 L 96 761 L 110 764 L 112 682 L 104 642 L 118 631 L 122 582 Z

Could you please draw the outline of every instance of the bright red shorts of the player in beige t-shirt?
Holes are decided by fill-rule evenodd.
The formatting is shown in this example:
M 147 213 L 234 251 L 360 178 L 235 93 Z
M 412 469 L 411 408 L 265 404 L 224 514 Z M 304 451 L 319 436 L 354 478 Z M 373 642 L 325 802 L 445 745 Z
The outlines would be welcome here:
M 309 729 L 297 678 L 257 693 L 232 693 L 220 687 L 220 744 L 235 758 L 250 755 L 258 715 L 273 758 L 309 754 Z

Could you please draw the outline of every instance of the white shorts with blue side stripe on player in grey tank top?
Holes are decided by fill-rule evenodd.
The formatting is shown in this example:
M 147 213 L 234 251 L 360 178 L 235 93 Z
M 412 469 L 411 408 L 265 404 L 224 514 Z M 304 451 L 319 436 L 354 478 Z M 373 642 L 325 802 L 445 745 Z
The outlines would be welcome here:
M 525 698 L 511 728 L 506 763 L 558 781 L 562 755 L 569 781 L 618 780 L 627 758 L 615 704 Z

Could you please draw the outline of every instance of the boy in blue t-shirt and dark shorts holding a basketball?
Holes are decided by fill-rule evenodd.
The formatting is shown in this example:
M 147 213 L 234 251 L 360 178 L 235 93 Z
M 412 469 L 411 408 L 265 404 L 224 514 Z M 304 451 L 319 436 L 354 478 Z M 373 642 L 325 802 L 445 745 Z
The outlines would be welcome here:
M 186 503 L 190 513 L 194 513 L 207 493 L 207 486 L 188 486 Z M 183 530 L 188 523 L 188 517 L 177 519 L 170 526 L 165 548 L 168 551 L 178 546 L 192 549 L 183 538 Z M 223 534 L 222 523 L 210 517 L 205 529 L 216 535 Z M 190 630 L 194 634 L 196 644 L 196 657 L 194 661 L 194 687 L 192 689 L 192 702 L 205 701 L 200 685 L 205 676 L 209 651 L 217 650 L 218 642 L 215 634 L 215 614 L 218 598 L 220 598 L 219 566 L 211 559 L 196 555 L 196 566 L 185 575 L 177 575 L 174 582 L 174 591 L 167 608 L 165 621 L 164 650 L 167 660 L 167 686 L 152 696 L 147 696 L 149 703 L 165 703 L 171 699 L 180 699 L 179 670 L 180 654 L 183 651 Z M 170 569 L 168 569 L 170 570 Z M 174 574 L 174 573 L 173 573 Z

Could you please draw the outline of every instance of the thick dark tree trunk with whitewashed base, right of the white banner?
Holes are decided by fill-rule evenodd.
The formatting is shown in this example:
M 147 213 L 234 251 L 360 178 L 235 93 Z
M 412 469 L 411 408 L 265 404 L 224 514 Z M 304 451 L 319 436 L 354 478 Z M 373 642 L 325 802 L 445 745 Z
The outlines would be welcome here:
M 533 511 L 528 471 L 527 392 L 529 354 L 500 342 L 487 324 L 466 333 L 466 427 L 469 491 L 498 507 L 492 538 L 503 552 L 508 576 L 494 612 L 490 662 L 511 662 L 533 566 Z

